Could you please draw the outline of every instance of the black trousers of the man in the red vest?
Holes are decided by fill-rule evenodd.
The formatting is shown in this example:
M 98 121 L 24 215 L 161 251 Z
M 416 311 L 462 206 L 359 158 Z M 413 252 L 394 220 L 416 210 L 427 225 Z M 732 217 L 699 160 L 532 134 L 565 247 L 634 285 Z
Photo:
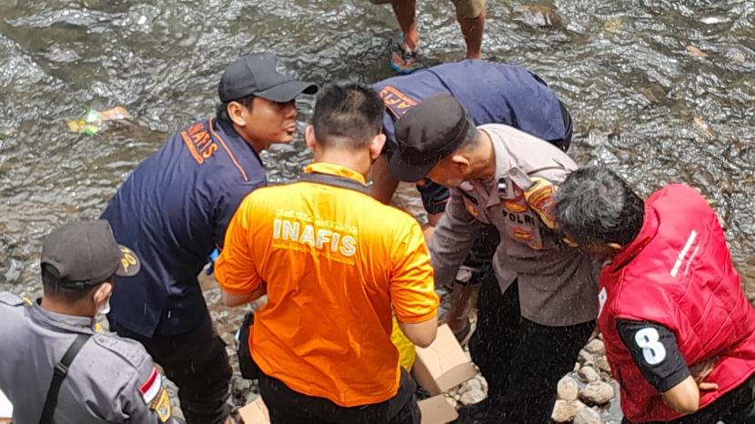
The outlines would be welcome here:
M 716 399 L 692 415 L 673 421 L 652 421 L 646 424 L 753 424 L 755 423 L 755 376 L 736 389 Z M 629 419 L 622 424 L 632 424 Z

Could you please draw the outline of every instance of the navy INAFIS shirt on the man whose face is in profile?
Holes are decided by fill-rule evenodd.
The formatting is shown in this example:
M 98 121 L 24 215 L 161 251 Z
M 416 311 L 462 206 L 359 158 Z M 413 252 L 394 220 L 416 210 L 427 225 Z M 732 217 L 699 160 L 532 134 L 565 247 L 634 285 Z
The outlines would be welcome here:
M 116 278 L 108 318 L 146 337 L 196 328 L 206 309 L 196 275 L 222 247 L 244 197 L 267 179 L 257 153 L 230 124 L 199 121 L 149 156 L 102 217 L 140 258 L 134 277 Z

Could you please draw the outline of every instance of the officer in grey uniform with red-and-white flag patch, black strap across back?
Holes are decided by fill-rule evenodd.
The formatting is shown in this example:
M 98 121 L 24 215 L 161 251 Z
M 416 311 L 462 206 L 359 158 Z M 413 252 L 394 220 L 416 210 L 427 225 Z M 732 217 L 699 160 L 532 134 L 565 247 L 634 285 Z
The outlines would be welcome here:
M 113 276 L 139 273 L 136 255 L 105 220 L 73 222 L 45 238 L 41 268 L 41 299 L 0 293 L 0 389 L 13 422 L 176 422 L 145 349 L 95 323 Z

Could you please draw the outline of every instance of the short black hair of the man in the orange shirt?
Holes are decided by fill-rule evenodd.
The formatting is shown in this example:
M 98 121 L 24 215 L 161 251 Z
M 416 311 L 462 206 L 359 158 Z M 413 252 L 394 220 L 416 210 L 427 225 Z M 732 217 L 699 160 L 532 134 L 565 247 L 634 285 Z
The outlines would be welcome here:
M 359 149 L 369 146 L 383 127 L 386 106 L 370 86 L 333 84 L 317 96 L 312 126 L 321 146 Z

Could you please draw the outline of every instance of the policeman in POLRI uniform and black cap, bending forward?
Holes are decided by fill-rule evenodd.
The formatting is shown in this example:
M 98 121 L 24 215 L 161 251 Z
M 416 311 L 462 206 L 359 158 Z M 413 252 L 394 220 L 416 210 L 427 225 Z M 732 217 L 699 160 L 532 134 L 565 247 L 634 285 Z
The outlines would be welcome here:
M 439 119 L 438 117 L 441 117 Z M 488 379 L 488 400 L 461 422 L 549 421 L 556 382 L 574 366 L 595 327 L 597 264 L 564 247 L 549 217 L 550 197 L 576 164 L 558 147 L 511 126 L 476 128 L 449 95 L 433 96 L 396 127 L 391 172 L 450 188 L 446 213 L 430 245 L 436 282 L 454 278 L 480 223 L 500 234 L 494 281 L 483 282 L 480 320 L 495 333 L 475 333 L 472 349 Z

